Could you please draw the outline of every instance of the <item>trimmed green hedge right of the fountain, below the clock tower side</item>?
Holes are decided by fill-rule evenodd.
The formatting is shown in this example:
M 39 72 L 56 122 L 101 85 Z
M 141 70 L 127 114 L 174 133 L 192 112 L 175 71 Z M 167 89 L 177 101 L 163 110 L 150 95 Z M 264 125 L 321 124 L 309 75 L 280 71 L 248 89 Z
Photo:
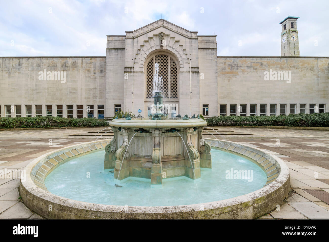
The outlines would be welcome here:
M 206 120 L 211 126 L 305 126 L 328 127 L 329 113 L 280 116 L 218 116 Z

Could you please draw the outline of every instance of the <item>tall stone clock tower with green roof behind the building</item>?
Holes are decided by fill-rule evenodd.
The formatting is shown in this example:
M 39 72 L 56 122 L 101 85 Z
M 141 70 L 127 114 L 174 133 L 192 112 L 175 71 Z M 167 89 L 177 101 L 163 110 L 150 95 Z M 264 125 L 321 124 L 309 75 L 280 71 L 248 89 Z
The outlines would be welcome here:
M 282 26 L 281 56 L 299 56 L 298 18 L 288 16 L 280 23 Z

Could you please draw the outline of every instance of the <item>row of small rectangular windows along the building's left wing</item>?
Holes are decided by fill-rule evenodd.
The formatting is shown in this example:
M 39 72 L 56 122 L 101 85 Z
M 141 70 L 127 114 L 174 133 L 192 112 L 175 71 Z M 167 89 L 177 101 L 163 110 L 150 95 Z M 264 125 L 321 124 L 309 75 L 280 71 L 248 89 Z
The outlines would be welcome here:
M 5 105 L 5 117 L 12 117 L 12 112 L 14 112 L 14 117 L 32 117 L 32 105 L 25 105 L 25 113 L 22 115 L 23 105 Z M 46 113 L 42 115 L 42 105 L 35 105 L 35 117 L 38 116 L 57 116 L 63 117 L 63 105 L 55 105 L 55 110 L 53 110 L 53 105 L 45 105 Z M 73 118 L 73 106 L 66 105 L 66 117 Z M 77 115 L 75 118 L 82 119 L 84 117 L 84 105 L 76 105 Z M 23 110 L 24 111 L 24 110 Z M 87 104 L 87 118 L 104 119 L 104 104 Z M 97 113 L 97 114 L 96 114 Z M 53 115 L 56 114 L 56 115 Z M 1 105 L 0 105 L 0 115 L 1 115 Z M 65 114 L 64 114 L 65 116 Z

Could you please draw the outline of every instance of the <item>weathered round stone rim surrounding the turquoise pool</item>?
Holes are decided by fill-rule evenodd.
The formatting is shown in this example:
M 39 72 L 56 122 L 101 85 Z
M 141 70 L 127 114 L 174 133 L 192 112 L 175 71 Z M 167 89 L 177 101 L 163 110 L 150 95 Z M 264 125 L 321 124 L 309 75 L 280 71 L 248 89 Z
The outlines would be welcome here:
M 40 183 L 37 184 L 41 181 L 40 178 L 43 176 L 46 177 L 51 172 L 51 169 L 45 175 L 40 172 L 41 168 L 46 171 L 46 167 L 43 166 L 48 167 L 48 163 L 51 164 L 49 162 L 51 159 L 57 162 L 57 160 L 60 161 L 60 159 L 64 158 L 62 161 L 57 162 L 57 164 L 55 163 L 54 167 L 52 167 L 54 169 L 61 162 L 63 163 L 73 157 L 73 155 L 68 157 L 70 153 L 84 150 L 85 152 L 77 154 L 74 157 L 84 155 L 96 150 L 97 147 L 105 147 L 105 144 L 110 142 L 110 140 L 102 140 L 101 142 L 89 142 L 59 149 L 33 160 L 26 167 L 26 180 L 21 180 L 19 188 L 20 195 L 23 202 L 30 209 L 50 219 L 253 219 L 273 210 L 277 204 L 281 204 L 287 197 L 290 190 L 290 174 L 288 167 L 280 158 L 261 149 L 251 148 L 235 142 L 218 141 L 216 139 L 206 140 L 212 143 L 214 148 L 221 148 L 220 146 L 222 145 L 223 147 L 228 146 L 227 149 L 233 150 L 235 153 L 239 153 L 237 151 L 238 148 L 240 152 L 243 151 L 242 149 L 245 149 L 245 155 L 248 153 L 247 151 L 251 151 L 248 156 L 242 155 L 249 159 L 252 159 L 249 157 L 252 156 L 252 153 L 255 153 L 252 156 L 253 158 L 261 155 L 272 164 L 275 164 L 276 170 L 279 171 L 278 176 L 276 179 L 266 182 L 267 185 L 265 187 L 242 196 L 200 204 L 159 207 L 117 206 L 80 202 L 48 192 L 46 187 L 43 187 L 44 183 L 43 186 L 42 183 L 41 185 Z M 88 151 L 88 149 L 90 150 Z M 67 155 L 66 158 L 64 154 Z

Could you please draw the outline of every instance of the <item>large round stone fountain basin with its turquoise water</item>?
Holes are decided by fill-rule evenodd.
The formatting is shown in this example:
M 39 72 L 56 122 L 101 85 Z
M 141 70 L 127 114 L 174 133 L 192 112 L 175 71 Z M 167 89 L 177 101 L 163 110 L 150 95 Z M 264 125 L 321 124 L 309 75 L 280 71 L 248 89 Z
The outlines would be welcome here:
M 287 197 L 290 175 L 280 158 L 239 143 L 206 141 L 212 147 L 213 168 L 202 169 L 204 175 L 194 181 L 168 178 L 155 189 L 140 178 L 114 181 L 111 170 L 102 171 L 102 160 L 97 161 L 110 142 L 106 140 L 38 157 L 26 168 L 20 195 L 30 209 L 52 219 L 252 219 L 276 208 Z M 229 168 L 253 170 L 253 181 L 225 179 Z M 72 177 L 67 176 L 68 171 Z M 136 199 L 127 198 L 130 195 Z

